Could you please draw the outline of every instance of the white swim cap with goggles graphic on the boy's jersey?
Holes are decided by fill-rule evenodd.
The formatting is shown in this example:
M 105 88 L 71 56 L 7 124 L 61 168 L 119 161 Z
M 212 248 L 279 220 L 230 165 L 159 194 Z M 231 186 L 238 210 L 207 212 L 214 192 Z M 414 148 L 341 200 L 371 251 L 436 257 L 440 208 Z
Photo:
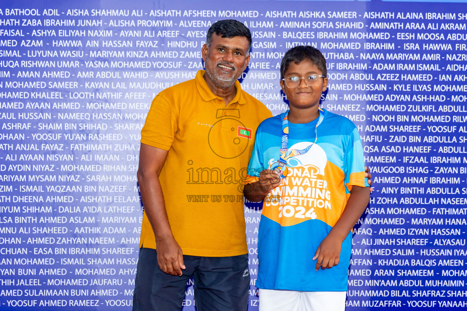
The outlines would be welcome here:
M 311 145 L 312 144 L 312 145 Z M 311 166 L 314 168 L 313 172 L 316 174 L 324 175 L 324 168 L 327 163 L 326 152 L 317 144 L 313 144 L 308 141 L 302 141 L 295 145 L 292 145 L 287 153 L 295 150 L 303 150 L 308 148 L 311 145 L 310 149 L 304 154 L 298 154 L 296 156 L 290 157 L 287 159 L 288 167 L 297 167 L 297 166 Z

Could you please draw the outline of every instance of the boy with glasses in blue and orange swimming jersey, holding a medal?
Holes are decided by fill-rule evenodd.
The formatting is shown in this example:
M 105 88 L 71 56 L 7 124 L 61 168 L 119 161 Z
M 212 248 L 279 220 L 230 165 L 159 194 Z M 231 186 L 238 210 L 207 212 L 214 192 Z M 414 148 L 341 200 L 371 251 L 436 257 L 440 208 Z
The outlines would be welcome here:
M 343 311 L 351 230 L 370 194 L 360 135 L 319 108 L 328 79 L 316 48 L 290 49 L 281 78 L 290 110 L 258 127 L 244 189 L 248 200 L 264 199 L 260 311 Z

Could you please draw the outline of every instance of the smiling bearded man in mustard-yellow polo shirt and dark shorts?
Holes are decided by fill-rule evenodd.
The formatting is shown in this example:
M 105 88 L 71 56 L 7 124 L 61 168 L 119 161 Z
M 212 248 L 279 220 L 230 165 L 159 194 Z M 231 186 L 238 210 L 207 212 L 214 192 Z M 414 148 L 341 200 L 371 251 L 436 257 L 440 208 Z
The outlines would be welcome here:
M 141 132 L 134 311 L 180 310 L 191 276 L 198 311 L 247 310 L 243 184 L 256 128 L 272 117 L 237 81 L 250 46 L 241 22 L 214 23 L 202 48 L 206 71 L 151 104 Z

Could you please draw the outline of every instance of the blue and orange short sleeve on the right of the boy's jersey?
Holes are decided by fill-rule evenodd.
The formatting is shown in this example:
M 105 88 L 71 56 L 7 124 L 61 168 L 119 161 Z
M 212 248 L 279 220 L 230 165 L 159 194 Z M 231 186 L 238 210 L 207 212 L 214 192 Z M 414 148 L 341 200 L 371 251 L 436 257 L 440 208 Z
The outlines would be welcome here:
M 352 189 L 352 186 L 369 187 L 368 179 L 365 177 L 363 147 L 356 127 L 350 134 L 344 155 L 344 176 L 345 184 L 349 191 Z

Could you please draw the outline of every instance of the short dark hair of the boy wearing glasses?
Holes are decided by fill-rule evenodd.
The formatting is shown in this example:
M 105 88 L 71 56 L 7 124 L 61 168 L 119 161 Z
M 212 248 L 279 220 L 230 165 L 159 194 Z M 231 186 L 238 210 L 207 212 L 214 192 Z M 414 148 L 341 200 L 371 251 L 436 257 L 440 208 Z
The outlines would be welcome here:
M 319 70 L 321 70 L 322 75 L 327 75 L 326 70 L 326 59 L 323 54 L 317 49 L 311 46 L 299 45 L 288 50 L 281 62 L 281 79 L 285 76 L 285 71 L 289 68 L 291 62 L 295 62 L 297 65 L 304 60 L 310 61 L 315 64 Z

